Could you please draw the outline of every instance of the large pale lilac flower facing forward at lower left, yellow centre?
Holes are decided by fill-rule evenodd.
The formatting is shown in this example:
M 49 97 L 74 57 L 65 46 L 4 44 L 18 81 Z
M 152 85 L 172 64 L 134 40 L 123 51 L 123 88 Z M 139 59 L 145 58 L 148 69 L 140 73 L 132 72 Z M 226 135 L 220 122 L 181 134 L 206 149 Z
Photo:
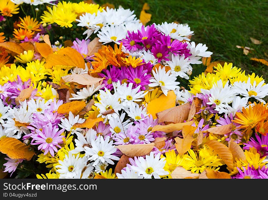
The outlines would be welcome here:
M 59 129 L 54 126 L 52 128 L 52 124 L 48 123 L 47 126 L 45 126 L 42 131 L 36 129 L 37 134 L 33 135 L 33 140 L 31 142 L 32 145 L 39 145 L 38 150 L 42 149 L 44 150 L 44 155 L 46 155 L 48 152 L 50 152 L 51 156 L 54 156 L 54 152 L 58 152 L 58 148 L 61 148 L 59 144 L 63 143 L 62 138 L 62 132 L 64 132 L 64 129 Z

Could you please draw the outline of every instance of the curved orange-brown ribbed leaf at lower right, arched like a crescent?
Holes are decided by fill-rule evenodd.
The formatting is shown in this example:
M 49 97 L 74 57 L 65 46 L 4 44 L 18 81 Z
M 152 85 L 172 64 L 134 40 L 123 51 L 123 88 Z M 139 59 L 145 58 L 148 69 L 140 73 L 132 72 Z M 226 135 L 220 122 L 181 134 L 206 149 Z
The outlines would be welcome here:
M 217 140 L 209 140 L 205 144 L 213 149 L 230 169 L 233 169 L 233 154 L 227 146 Z

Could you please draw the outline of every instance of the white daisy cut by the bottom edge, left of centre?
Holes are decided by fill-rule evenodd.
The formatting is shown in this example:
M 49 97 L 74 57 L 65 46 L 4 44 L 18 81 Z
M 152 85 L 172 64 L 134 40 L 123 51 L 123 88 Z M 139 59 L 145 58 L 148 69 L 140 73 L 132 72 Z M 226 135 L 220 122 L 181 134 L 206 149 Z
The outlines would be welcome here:
M 59 165 L 56 165 L 59 178 L 80 178 L 82 169 L 84 167 L 84 161 L 79 154 L 76 156 L 69 151 L 68 155 L 65 155 L 63 160 L 58 160 Z

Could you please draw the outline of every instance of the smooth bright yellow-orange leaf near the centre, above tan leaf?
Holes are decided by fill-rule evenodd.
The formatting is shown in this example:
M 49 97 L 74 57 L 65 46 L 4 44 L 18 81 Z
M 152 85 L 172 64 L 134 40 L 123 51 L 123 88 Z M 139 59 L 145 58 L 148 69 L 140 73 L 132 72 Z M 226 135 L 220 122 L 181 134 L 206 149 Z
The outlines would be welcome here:
M 156 119 L 156 113 L 173 108 L 176 105 L 176 95 L 173 90 L 168 91 L 168 95 L 161 94 L 147 104 L 147 113 Z

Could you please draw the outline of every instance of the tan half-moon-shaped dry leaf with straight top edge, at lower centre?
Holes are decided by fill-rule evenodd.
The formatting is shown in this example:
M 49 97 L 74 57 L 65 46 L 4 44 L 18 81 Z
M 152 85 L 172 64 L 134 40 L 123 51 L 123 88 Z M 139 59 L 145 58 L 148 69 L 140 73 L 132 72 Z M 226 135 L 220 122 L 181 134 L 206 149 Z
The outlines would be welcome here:
M 146 154 L 149 154 L 153 147 L 154 143 L 149 144 L 127 144 L 127 145 L 118 145 L 116 148 L 118 148 L 123 154 L 134 157 L 134 156 L 144 156 Z

